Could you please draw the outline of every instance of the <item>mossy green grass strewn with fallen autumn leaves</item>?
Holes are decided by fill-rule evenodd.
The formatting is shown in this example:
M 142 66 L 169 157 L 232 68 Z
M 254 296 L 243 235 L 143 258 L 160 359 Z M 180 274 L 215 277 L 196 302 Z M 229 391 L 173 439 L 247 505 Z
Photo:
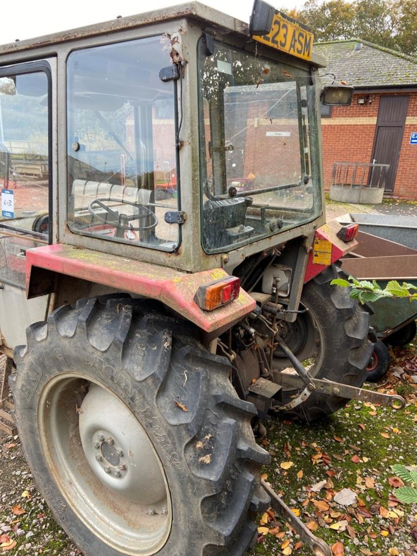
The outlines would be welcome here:
M 417 342 L 415 346 L 409 346 L 408 350 L 400 351 L 402 358 L 405 351 L 408 353 L 407 360 L 413 360 L 417 354 Z M 398 364 L 395 354 L 393 364 Z M 390 486 L 388 480 L 394 476 L 391 465 L 417 465 L 417 385 L 397 382 L 389 375 L 383 390 L 393 392 L 394 381 L 398 384 L 395 384 L 395 390 L 408 400 L 404 410 L 370 406 L 351 400 L 344 409 L 310 427 L 271 417 L 265 422 L 267 435 L 262 442 L 271 454 L 271 465 L 264 469 L 267 480 L 291 508 L 300 510 L 304 523 L 311 520 L 317 523 L 318 528 L 314 533 L 317 537 L 330 545 L 342 542 L 345 554 L 386 556 L 390 548 L 395 548 L 400 556 L 405 556 L 411 554 L 406 552 L 407 547 L 416 544 L 410 530 L 417 528 L 417 506 L 399 504 L 389 507 L 389 497 L 395 495 L 395 488 Z M 381 385 L 366 386 L 375 389 Z M 324 459 L 317 458 L 317 453 L 323 454 Z M 285 461 L 293 463 L 288 470 L 280 467 Z M 299 471 L 302 471 L 301 478 L 297 476 Z M 330 478 L 326 471 L 333 476 Z M 374 481 L 374 488 L 366 486 L 366 478 Z M 325 488 L 319 493 L 312 493 L 311 486 L 323 479 L 327 480 Z M 341 507 L 332 500 L 335 492 L 342 488 L 357 493 L 361 503 L 369 510 L 369 517 L 358 519 L 357 503 Z M 319 512 L 312 503 L 313 498 L 327 500 L 329 512 Z M 380 506 L 391 511 L 399 509 L 399 518 L 381 517 Z M 331 518 L 330 512 L 335 511 L 342 515 Z M 330 528 L 338 520 L 345 519 L 344 514 L 354 530 L 355 538 L 347 530 L 338 532 Z M 294 556 L 311 556 L 312 553 L 305 545 L 294 549 L 299 538 L 291 535 L 289 527 L 281 524 L 281 530 L 285 532 L 284 539 L 290 539 L 289 548 Z M 260 537 L 262 542 L 256 545 L 251 555 L 285 554 L 281 549 L 284 539 L 271 534 L 267 534 L 264 539 Z

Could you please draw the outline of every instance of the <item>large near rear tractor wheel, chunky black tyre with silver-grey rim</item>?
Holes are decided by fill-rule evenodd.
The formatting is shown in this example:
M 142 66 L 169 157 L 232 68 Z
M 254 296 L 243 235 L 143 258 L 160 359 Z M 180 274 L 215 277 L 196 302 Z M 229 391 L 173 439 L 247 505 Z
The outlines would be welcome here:
M 27 329 L 11 380 L 34 481 L 85 556 L 241 556 L 269 454 L 224 358 L 123 296 Z

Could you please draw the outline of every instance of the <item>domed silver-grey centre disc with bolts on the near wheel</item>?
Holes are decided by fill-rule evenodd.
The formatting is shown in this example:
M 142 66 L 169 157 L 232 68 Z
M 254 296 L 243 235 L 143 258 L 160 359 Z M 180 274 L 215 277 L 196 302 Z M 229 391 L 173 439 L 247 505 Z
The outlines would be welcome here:
M 132 502 L 166 505 L 165 481 L 151 442 L 124 404 L 91 384 L 79 424 L 88 464 L 107 488 Z

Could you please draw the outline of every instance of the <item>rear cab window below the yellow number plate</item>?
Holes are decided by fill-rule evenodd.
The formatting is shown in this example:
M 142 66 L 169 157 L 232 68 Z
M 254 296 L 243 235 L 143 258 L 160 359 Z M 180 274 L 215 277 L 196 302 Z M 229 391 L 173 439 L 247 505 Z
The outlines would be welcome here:
M 202 236 L 223 251 L 320 214 L 315 84 L 306 71 L 200 41 Z

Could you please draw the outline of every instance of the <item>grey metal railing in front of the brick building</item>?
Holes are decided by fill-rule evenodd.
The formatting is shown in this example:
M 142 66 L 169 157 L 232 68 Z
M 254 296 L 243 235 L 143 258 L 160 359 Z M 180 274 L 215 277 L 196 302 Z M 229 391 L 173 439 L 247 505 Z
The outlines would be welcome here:
M 385 187 L 389 164 L 367 164 L 364 162 L 335 162 L 331 185 L 337 187 Z

